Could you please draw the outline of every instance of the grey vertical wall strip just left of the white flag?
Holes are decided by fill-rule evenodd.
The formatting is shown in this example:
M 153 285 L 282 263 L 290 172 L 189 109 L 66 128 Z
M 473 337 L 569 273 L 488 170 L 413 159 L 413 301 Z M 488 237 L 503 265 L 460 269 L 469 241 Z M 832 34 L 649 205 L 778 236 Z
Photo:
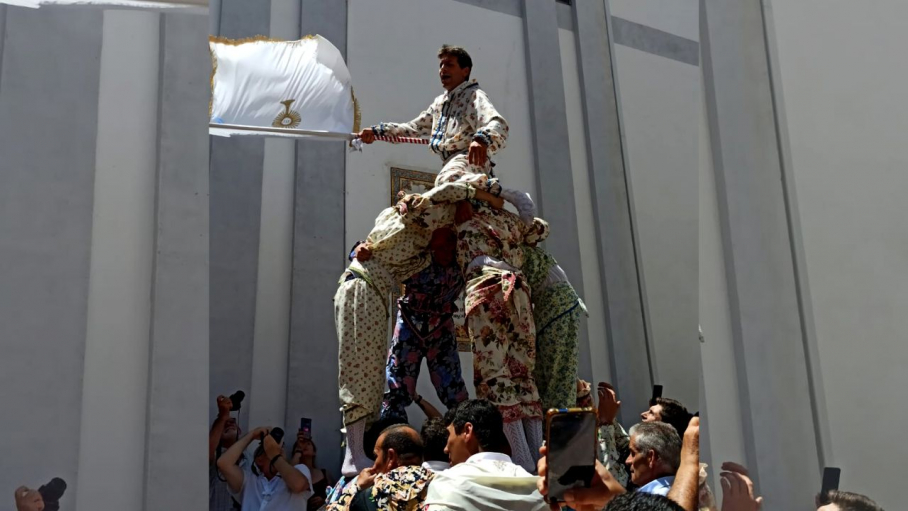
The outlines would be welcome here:
M 161 27 L 155 260 L 146 440 L 146 510 L 204 509 L 208 459 L 209 54 L 205 16 Z

